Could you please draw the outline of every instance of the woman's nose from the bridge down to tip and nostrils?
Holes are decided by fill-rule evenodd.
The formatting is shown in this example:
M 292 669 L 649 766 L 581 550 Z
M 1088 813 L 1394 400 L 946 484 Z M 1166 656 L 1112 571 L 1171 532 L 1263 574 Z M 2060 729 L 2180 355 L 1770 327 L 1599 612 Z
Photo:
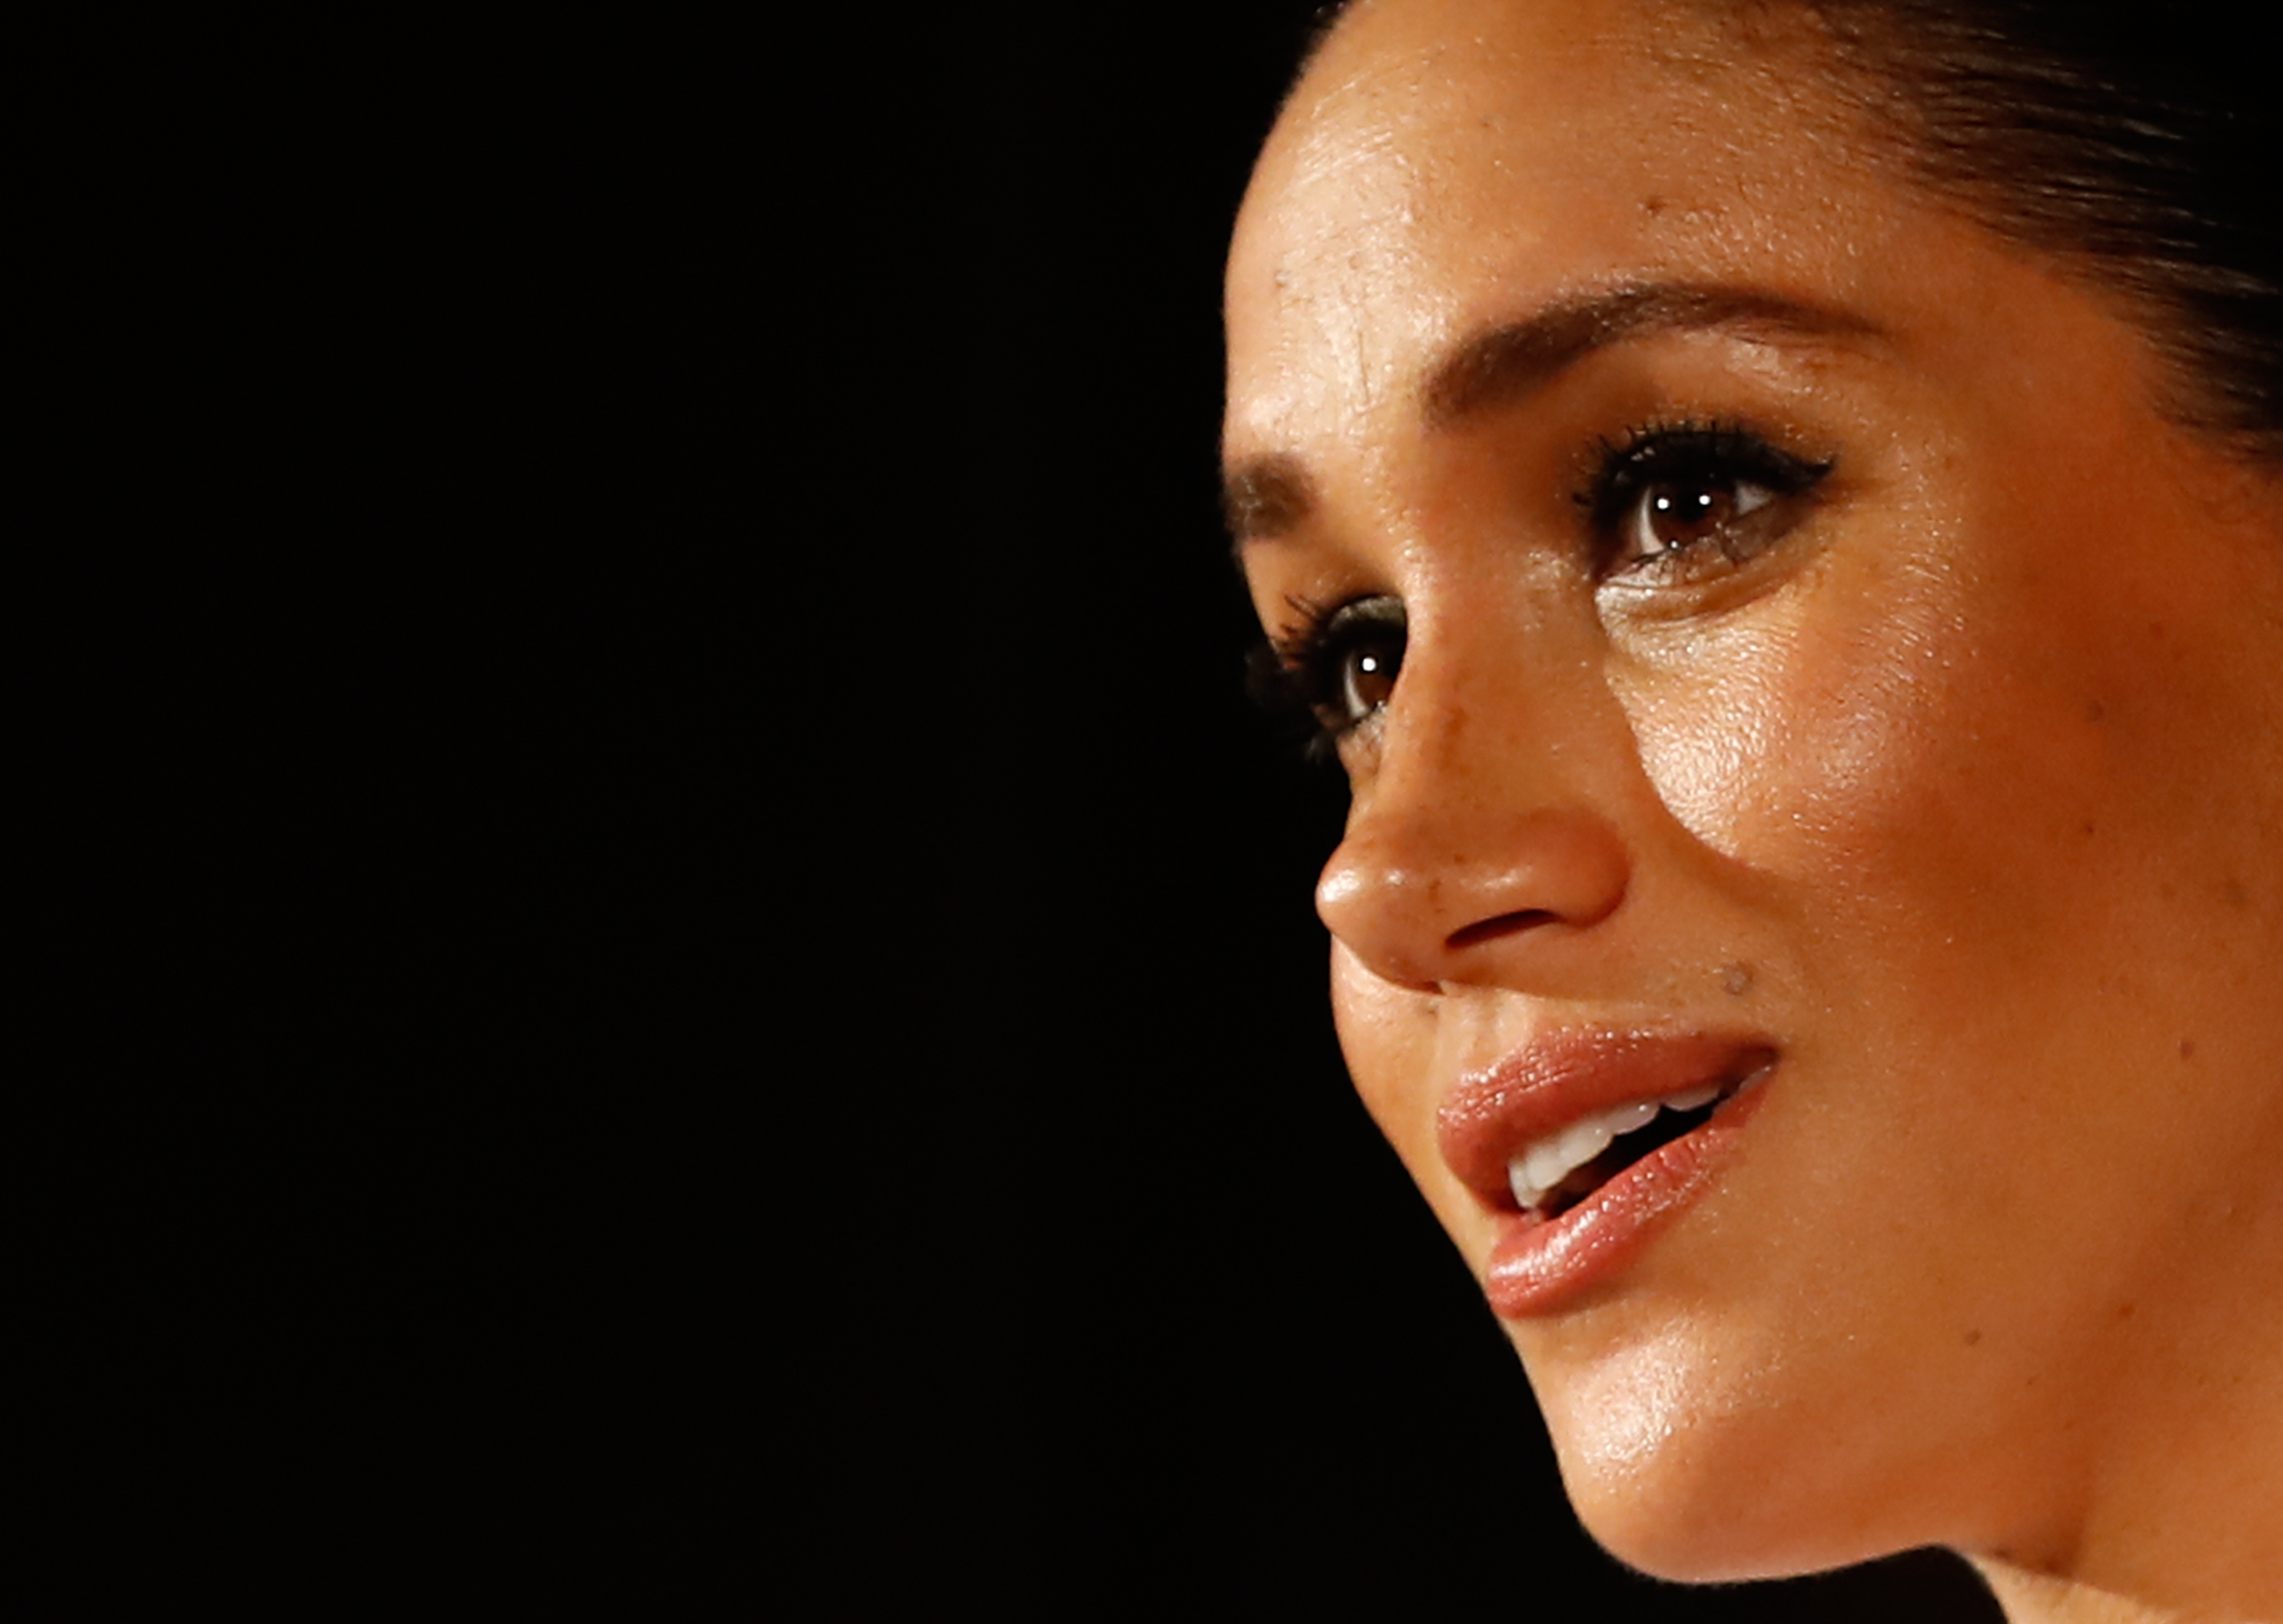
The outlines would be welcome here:
M 1372 770 L 1324 868 L 1324 925 L 1379 978 L 1525 989 L 1625 898 L 1614 699 L 1552 628 L 1413 621 Z

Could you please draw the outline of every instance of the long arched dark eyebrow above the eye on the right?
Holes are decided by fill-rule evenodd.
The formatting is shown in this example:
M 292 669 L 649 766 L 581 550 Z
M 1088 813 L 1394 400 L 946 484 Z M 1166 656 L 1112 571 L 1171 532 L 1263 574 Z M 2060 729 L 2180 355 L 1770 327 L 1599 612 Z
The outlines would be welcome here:
M 1751 288 L 1646 283 L 1564 299 L 1520 322 L 1473 333 L 1427 372 L 1420 416 L 1434 432 L 1546 388 L 1594 349 L 1641 333 L 1765 327 L 1781 333 L 1870 333 L 1845 311 Z

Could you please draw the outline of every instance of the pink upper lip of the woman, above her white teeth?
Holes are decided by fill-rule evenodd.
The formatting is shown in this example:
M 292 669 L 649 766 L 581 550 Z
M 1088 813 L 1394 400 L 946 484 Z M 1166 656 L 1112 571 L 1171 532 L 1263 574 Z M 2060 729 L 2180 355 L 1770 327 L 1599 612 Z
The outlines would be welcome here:
M 1514 1211 L 1507 1163 L 1532 1142 L 1612 1106 L 1767 1069 L 1776 1044 L 1708 1030 L 1568 1028 L 1463 1074 L 1436 1110 L 1443 1163 L 1491 1211 Z

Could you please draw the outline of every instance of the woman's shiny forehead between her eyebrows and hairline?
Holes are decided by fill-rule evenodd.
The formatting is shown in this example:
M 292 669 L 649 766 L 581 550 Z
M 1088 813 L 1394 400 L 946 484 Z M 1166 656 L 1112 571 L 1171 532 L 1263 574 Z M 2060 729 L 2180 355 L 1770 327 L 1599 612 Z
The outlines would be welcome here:
M 1897 194 L 1804 11 L 1379 0 L 1253 174 L 1228 274 L 1233 452 L 1418 386 L 1461 333 L 1648 281 L 1845 304 Z

